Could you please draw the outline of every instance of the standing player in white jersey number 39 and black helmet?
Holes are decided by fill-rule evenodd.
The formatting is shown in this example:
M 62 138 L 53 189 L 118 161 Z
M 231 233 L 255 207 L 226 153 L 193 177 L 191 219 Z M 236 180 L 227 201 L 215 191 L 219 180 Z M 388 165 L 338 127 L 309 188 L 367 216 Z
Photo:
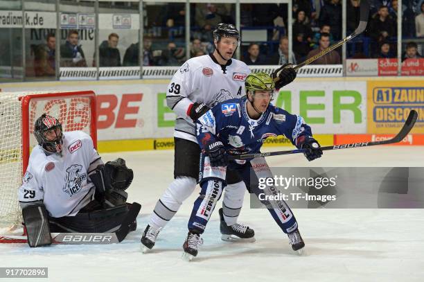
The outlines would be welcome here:
M 177 213 L 182 202 L 193 193 L 199 175 L 200 147 L 195 136 L 194 121 L 216 103 L 245 95 L 245 79 L 249 67 L 233 54 L 240 45 L 240 33 L 232 24 L 218 24 L 213 31 L 215 51 L 187 60 L 168 85 L 168 107 L 177 114 L 175 121 L 174 181 L 160 197 L 141 238 L 143 251 L 152 249 L 159 231 Z M 281 67 L 279 85 L 287 85 L 296 77 L 292 68 Z M 254 241 L 254 230 L 237 223 L 245 195 L 245 184 L 238 174 L 227 173 L 222 202 L 220 230 L 222 240 Z M 235 236 L 235 237 L 234 237 Z

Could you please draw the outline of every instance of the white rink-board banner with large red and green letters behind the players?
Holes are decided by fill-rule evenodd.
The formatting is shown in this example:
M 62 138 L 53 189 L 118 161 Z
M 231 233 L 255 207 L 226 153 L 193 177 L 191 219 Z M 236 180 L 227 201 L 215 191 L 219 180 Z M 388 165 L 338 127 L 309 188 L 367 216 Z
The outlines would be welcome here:
M 92 90 L 97 96 L 98 140 L 173 136 L 175 113 L 166 105 L 167 81 L 42 82 L 3 85 L 2 91 Z M 274 105 L 301 115 L 314 134 L 366 133 L 366 82 L 294 82 Z M 281 143 L 281 142 L 276 142 Z

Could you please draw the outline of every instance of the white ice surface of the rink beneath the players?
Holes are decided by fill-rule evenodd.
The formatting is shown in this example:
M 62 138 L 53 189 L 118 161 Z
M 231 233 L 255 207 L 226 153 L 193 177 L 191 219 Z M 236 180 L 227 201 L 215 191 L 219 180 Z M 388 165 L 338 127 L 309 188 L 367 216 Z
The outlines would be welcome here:
M 129 200 L 142 204 L 135 232 L 116 245 L 3 244 L 0 266 L 48 267 L 49 281 L 424 281 L 424 209 L 294 209 L 306 242 L 306 255 L 297 256 L 270 214 L 249 209 L 246 196 L 239 220 L 255 229 L 256 242 L 220 240 L 215 211 L 199 255 L 188 263 L 181 259 L 182 244 L 197 189 L 161 231 L 153 251 L 142 254 L 148 216 L 173 179 L 173 151 L 103 154 L 105 161 L 116 157 L 134 170 Z M 267 161 L 270 166 L 424 166 L 424 148 L 376 146 L 327 151 L 312 163 L 301 155 Z M 46 281 L 24 281 L 37 280 Z

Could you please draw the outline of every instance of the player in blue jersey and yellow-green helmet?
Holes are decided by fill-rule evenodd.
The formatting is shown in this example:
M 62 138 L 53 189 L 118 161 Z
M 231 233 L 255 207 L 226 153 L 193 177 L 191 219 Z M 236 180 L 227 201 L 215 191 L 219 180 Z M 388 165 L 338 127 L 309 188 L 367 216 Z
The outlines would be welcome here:
M 267 73 L 251 73 L 246 78 L 247 95 L 218 103 L 197 122 L 197 141 L 202 149 L 200 160 L 200 196 L 195 200 L 188 222 L 188 236 L 184 242 L 184 256 L 189 260 L 197 255 L 200 236 L 206 228 L 216 202 L 226 185 L 227 167 L 236 170 L 245 182 L 249 193 L 273 195 L 274 186 L 258 188 L 258 179 L 273 177 L 263 157 L 229 161 L 229 155 L 260 152 L 269 136 L 284 135 L 294 146 L 305 150 L 309 161 L 321 157 L 319 143 L 301 116 L 293 115 L 270 105 L 275 91 L 274 81 Z M 250 171 L 254 171 L 251 177 Z M 305 246 L 297 221 L 283 201 L 261 201 L 266 204 L 272 218 L 288 234 L 292 249 L 301 252 Z M 220 210 L 222 220 L 222 210 Z M 225 224 L 221 224 L 221 228 Z M 225 232 L 222 232 L 225 233 Z

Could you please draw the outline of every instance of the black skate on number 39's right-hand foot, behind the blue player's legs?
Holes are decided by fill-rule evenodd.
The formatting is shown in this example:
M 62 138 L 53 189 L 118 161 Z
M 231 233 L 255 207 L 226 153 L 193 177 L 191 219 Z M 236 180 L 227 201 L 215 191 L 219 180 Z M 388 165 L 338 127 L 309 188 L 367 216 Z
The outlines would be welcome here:
M 219 210 L 220 213 L 220 231 L 221 231 L 221 239 L 223 241 L 228 242 L 254 242 L 255 239 L 255 231 L 250 229 L 249 227 L 236 223 L 228 226 L 224 220 L 224 214 L 222 213 L 222 209 Z

